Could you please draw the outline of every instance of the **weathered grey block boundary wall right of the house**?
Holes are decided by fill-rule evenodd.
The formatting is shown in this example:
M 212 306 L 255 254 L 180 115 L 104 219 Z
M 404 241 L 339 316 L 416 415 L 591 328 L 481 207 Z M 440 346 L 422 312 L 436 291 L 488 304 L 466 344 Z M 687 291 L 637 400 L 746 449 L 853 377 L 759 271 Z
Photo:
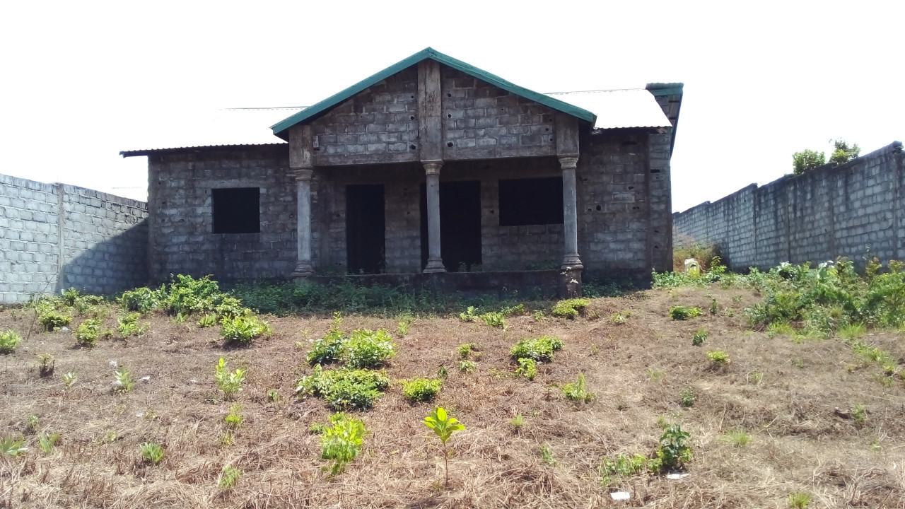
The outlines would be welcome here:
M 751 185 L 673 215 L 676 245 L 719 244 L 729 267 L 767 269 L 868 250 L 884 263 L 905 259 L 905 169 L 901 144 L 802 176 Z

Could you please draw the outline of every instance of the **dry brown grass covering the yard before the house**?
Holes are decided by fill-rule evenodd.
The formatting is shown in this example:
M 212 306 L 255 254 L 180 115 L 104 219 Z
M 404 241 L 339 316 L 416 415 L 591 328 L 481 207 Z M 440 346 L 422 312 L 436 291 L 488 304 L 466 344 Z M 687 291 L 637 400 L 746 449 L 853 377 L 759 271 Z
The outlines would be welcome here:
M 666 316 L 675 304 L 709 309 L 710 295 L 720 304 L 717 315 L 688 322 Z M 585 313 L 630 311 L 624 323 L 535 322 L 526 315 L 509 318 L 505 331 L 452 317 L 417 320 L 396 340 L 399 354 L 388 372 L 412 379 L 448 368 L 436 404 L 467 427 L 450 441 L 448 489 L 439 442 L 423 424 L 432 406 L 410 404 L 397 384 L 359 414 L 371 431 L 362 455 L 332 482 L 325 478 L 319 437 L 308 428 L 325 422 L 329 408 L 319 399 L 294 399 L 292 390 L 294 379 L 310 372 L 295 343 L 307 344 L 304 331 L 310 337 L 327 331 L 328 317 L 270 318 L 274 335 L 244 349 L 224 349 L 214 341 L 215 328 L 162 316 L 143 337 L 100 341 L 93 349 L 75 348 L 66 332 L 33 332 L 14 354 L 0 356 L 0 428 L 18 433 L 36 415 L 39 433 L 62 439 L 44 455 L 38 436 L 26 435 L 24 456 L 0 457 L 0 506 L 786 507 L 790 493 L 807 492 L 811 507 L 905 507 L 905 384 L 881 384 L 875 376 L 881 368 L 862 365 L 841 341 L 795 344 L 746 331 L 741 310 L 756 299 L 717 288 L 652 291 L 596 299 Z M 733 317 L 722 312 L 726 307 Z M 0 312 L 0 330 L 25 335 L 29 322 L 24 310 Z M 361 327 L 395 331 L 396 322 L 343 322 L 344 330 Z M 709 336 L 692 347 L 701 327 Z M 533 382 L 515 378 L 511 344 L 542 334 L 561 337 L 565 349 L 552 363 L 538 363 Z M 905 357 L 901 332 L 872 334 L 865 339 Z M 481 345 L 478 369 L 462 373 L 457 348 L 472 341 Z M 710 369 L 704 352 L 716 349 L 732 358 L 728 369 Z M 56 359 L 55 373 L 41 378 L 35 354 L 45 351 Z M 231 404 L 214 387 L 220 357 L 248 370 L 236 398 L 244 421 L 231 446 L 219 443 Z M 150 380 L 114 395 L 110 360 Z M 61 379 L 67 371 L 79 377 L 70 389 Z M 654 380 L 649 372 L 662 375 Z M 569 403 L 550 386 L 578 373 L 596 392 L 591 404 Z M 695 401 L 682 408 L 687 387 Z M 279 389 L 281 399 L 271 402 L 269 389 Z M 867 408 L 863 423 L 851 418 L 857 405 Z M 518 431 L 510 425 L 517 414 L 524 416 Z M 691 432 L 690 475 L 644 474 L 601 485 L 603 457 L 653 452 L 660 417 Z M 747 430 L 750 443 L 726 443 L 721 437 L 731 429 Z M 166 449 L 157 466 L 141 461 L 138 446 L 148 441 Z M 540 447 L 550 447 L 556 466 L 542 461 Z M 224 465 L 243 471 L 232 490 L 217 486 Z M 612 501 L 615 490 L 630 492 L 631 500 Z

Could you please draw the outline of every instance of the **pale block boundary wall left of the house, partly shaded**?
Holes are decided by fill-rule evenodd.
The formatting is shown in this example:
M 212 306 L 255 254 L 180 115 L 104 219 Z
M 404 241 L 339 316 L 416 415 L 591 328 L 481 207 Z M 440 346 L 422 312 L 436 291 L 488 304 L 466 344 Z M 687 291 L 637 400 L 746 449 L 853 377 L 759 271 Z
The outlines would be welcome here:
M 0 302 L 147 283 L 147 216 L 129 198 L 0 175 Z

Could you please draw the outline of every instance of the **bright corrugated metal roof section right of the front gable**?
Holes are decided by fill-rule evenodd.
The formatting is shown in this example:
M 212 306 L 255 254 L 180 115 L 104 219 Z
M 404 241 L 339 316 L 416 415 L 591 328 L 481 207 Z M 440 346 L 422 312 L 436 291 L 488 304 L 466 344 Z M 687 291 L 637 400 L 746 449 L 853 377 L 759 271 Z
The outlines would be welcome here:
M 627 89 L 615 91 L 570 91 L 549 93 L 597 116 L 595 129 L 638 127 L 671 127 L 660 104 L 650 91 Z

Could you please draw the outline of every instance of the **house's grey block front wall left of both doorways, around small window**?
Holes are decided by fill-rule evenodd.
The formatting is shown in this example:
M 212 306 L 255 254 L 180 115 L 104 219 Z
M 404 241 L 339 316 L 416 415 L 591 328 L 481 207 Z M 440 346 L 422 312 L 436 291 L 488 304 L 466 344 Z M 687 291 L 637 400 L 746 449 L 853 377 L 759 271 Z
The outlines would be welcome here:
M 216 274 L 221 281 L 285 278 L 298 259 L 296 182 L 288 146 L 243 147 L 148 156 L 151 278 Z M 261 232 L 214 234 L 211 190 L 260 189 Z M 319 179 L 311 183 L 312 224 L 319 218 Z M 318 263 L 319 230 L 312 227 Z

